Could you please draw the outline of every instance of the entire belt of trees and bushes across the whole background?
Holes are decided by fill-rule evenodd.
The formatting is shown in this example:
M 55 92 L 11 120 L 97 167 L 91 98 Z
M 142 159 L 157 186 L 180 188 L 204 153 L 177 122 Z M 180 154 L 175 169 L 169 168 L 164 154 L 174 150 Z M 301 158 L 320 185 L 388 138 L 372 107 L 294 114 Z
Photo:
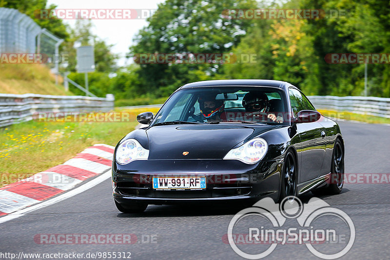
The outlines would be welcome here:
M 46 0 L 0 0 L 30 16 Z M 53 7 L 53 6 L 51 6 Z M 226 9 L 322 9 L 336 14 L 322 19 L 229 19 Z M 196 80 L 275 79 L 290 81 L 309 95 L 363 95 L 365 64 L 330 64 L 331 53 L 390 53 L 389 0 L 166 0 L 130 46 L 139 54 L 251 55 L 252 62 L 132 64 L 117 68 L 112 46 L 91 34 L 91 22 L 79 21 L 64 30 L 61 20 L 37 20 L 66 40 L 66 70 L 75 73 L 75 43 L 94 44 L 96 73 L 90 90 L 117 99 L 167 97 L 177 87 Z M 240 62 L 238 62 L 240 61 Z M 73 89 L 72 89 L 73 91 Z M 78 93 L 78 90 L 74 90 Z M 78 93 L 81 94 L 81 93 Z M 390 97 L 390 64 L 368 64 L 368 94 Z

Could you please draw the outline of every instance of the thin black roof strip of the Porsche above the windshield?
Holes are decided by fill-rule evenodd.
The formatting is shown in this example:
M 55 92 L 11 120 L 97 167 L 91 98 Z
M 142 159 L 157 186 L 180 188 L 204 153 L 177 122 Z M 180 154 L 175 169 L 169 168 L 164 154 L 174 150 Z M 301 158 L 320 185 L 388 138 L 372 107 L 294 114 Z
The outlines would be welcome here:
M 287 85 L 291 84 L 280 80 L 205 80 L 185 84 L 180 89 L 208 86 L 268 86 L 285 89 Z

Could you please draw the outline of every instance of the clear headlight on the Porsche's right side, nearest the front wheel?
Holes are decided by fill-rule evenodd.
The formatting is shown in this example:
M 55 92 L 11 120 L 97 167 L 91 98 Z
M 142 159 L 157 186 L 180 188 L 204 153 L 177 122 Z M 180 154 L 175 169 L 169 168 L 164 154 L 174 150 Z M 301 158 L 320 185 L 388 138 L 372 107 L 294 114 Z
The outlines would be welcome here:
M 240 160 L 248 164 L 254 164 L 263 159 L 268 150 L 267 141 L 255 138 L 247 141 L 240 147 L 234 148 L 223 158 L 224 160 Z

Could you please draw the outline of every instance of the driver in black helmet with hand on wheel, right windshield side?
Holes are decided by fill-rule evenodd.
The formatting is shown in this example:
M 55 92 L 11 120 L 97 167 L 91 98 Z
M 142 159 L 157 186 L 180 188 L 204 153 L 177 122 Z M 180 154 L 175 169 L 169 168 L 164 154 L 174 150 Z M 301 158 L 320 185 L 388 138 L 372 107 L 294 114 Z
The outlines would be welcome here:
M 273 122 L 283 122 L 282 117 L 276 117 L 273 113 L 268 113 L 270 110 L 270 103 L 267 95 L 264 92 L 248 92 L 242 99 L 242 106 L 246 112 L 250 114 L 248 116 L 260 116 L 260 114 L 267 115 L 267 118 Z

